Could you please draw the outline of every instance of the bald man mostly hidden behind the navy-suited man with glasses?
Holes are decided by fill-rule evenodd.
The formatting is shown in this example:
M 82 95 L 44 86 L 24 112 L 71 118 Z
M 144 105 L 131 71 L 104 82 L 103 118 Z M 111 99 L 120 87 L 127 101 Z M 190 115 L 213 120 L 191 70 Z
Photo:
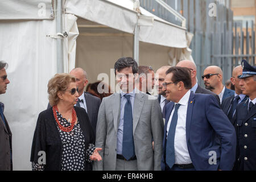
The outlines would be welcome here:
M 191 70 L 191 82 L 192 82 L 191 91 L 193 91 L 194 93 L 203 93 L 203 94 L 213 95 L 214 97 L 216 97 L 218 101 L 218 105 L 220 105 L 220 98 L 218 97 L 217 94 L 213 93 L 210 90 L 201 88 L 201 86 L 197 83 L 197 80 L 196 80 L 197 71 L 196 71 L 195 63 L 193 63 L 191 60 L 182 60 L 182 61 L 179 61 L 179 63 L 177 63 L 176 67 L 185 67 Z

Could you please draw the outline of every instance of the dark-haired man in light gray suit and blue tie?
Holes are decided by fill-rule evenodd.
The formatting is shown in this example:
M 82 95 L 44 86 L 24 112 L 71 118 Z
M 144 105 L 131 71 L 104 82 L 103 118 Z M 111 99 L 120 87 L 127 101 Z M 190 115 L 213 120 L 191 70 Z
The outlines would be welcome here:
M 93 169 L 160 170 L 163 119 L 158 100 L 135 88 L 138 65 L 131 57 L 118 59 L 114 69 L 121 90 L 102 100 L 95 143 L 102 148 L 102 160 Z

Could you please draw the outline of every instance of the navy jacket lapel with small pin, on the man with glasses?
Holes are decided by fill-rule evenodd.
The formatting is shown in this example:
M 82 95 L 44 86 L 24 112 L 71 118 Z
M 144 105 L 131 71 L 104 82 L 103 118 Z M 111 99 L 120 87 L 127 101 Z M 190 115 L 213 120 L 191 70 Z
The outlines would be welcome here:
M 188 143 L 188 139 L 189 139 L 189 132 L 190 132 L 194 102 L 195 102 L 195 94 L 193 92 L 191 92 L 191 94 L 189 96 L 189 100 L 188 100 L 187 119 L 186 119 L 187 143 Z

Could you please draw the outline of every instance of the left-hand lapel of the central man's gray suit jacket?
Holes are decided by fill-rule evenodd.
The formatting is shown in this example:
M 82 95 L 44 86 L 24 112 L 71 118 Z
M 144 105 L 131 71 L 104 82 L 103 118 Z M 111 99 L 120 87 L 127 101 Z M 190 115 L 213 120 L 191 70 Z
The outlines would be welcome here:
M 115 132 L 117 132 L 119 118 L 120 118 L 120 105 L 121 105 L 121 95 L 120 93 L 114 93 L 114 98 L 112 98 L 112 113 L 114 117 L 114 128 Z

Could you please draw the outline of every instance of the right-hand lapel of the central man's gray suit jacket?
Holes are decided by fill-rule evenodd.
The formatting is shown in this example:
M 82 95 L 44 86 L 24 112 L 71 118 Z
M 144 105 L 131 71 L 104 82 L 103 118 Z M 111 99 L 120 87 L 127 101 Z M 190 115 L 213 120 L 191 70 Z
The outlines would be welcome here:
M 134 108 L 133 108 L 133 134 L 138 125 L 139 117 L 141 116 L 141 111 L 144 105 L 144 94 L 136 93 L 134 100 Z

